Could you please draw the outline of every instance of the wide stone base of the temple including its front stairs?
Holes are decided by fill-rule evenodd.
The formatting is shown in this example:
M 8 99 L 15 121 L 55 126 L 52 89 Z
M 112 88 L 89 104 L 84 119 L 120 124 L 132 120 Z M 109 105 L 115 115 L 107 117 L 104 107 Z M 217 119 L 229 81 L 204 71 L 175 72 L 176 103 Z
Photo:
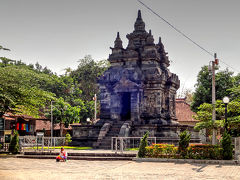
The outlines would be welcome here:
M 72 145 L 90 146 L 96 149 L 111 149 L 112 137 L 143 137 L 148 131 L 149 137 L 156 137 L 157 143 L 177 145 L 179 135 L 188 130 L 191 143 L 200 143 L 199 132 L 192 126 L 179 124 L 133 124 L 131 122 L 105 122 L 96 125 L 73 125 Z M 116 136 L 117 134 L 117 136 Z

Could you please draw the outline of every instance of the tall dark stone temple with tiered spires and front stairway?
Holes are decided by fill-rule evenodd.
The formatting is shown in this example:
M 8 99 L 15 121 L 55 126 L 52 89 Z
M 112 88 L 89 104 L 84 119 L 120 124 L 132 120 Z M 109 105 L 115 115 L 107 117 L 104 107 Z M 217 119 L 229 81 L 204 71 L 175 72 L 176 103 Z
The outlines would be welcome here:
M 180 126 L 175 98 L 180 81 L 168 69 L 169 59 L 159 37 L 154 43 L 145 30 L 141 11 L 134 31 L 122 45 L 117 33 L 110 68 L 98 80 L 100 120 L 95 125 L 73 125 L 73 140 L 80 145 L 110 148 L 111 137 L 141 137 L 146 131 L 161 142 L 177 141 Z

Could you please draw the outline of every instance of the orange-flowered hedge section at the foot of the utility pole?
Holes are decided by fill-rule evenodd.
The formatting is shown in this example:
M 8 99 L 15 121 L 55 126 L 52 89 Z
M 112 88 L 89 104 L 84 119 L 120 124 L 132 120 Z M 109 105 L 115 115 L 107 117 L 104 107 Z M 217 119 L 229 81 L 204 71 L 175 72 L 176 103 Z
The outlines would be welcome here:
M 218 145 L 190 145 L 187 152 L 189 159 L 222 159 L 222 148 Z

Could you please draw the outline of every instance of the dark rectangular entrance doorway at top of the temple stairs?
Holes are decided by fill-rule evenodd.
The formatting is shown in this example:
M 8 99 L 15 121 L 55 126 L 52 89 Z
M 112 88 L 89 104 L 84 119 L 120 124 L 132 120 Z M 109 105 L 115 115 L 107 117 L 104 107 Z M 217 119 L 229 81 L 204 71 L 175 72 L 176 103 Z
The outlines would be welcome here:
M 121 94 L 121 113 L 120 117 L 122 121 L 131 119 L 131 93 L 124 92 Z

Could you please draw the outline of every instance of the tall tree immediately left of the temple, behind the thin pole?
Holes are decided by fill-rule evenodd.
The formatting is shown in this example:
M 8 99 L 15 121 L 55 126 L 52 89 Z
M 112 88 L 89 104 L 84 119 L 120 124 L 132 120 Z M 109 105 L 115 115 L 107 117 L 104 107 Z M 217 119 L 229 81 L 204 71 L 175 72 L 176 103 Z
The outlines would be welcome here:
M 81 109 L 81 122 L 86 118 L 94 117 L 94 94 L 98 94 L 97 79 L 109 67 L 107 60 L 94 61 L 90 55 L 79 60 L 79 65 L 76 70 L 66 69 L 64 78 L 73 80 L 71 87 L 71 95 L 66 96 L 65 100 L 72 106 L 82 101 L 85 105 Z M 97 102 L 98 103 L 98 102 Z M 99 104 L 98 106 L 99 107 Z

